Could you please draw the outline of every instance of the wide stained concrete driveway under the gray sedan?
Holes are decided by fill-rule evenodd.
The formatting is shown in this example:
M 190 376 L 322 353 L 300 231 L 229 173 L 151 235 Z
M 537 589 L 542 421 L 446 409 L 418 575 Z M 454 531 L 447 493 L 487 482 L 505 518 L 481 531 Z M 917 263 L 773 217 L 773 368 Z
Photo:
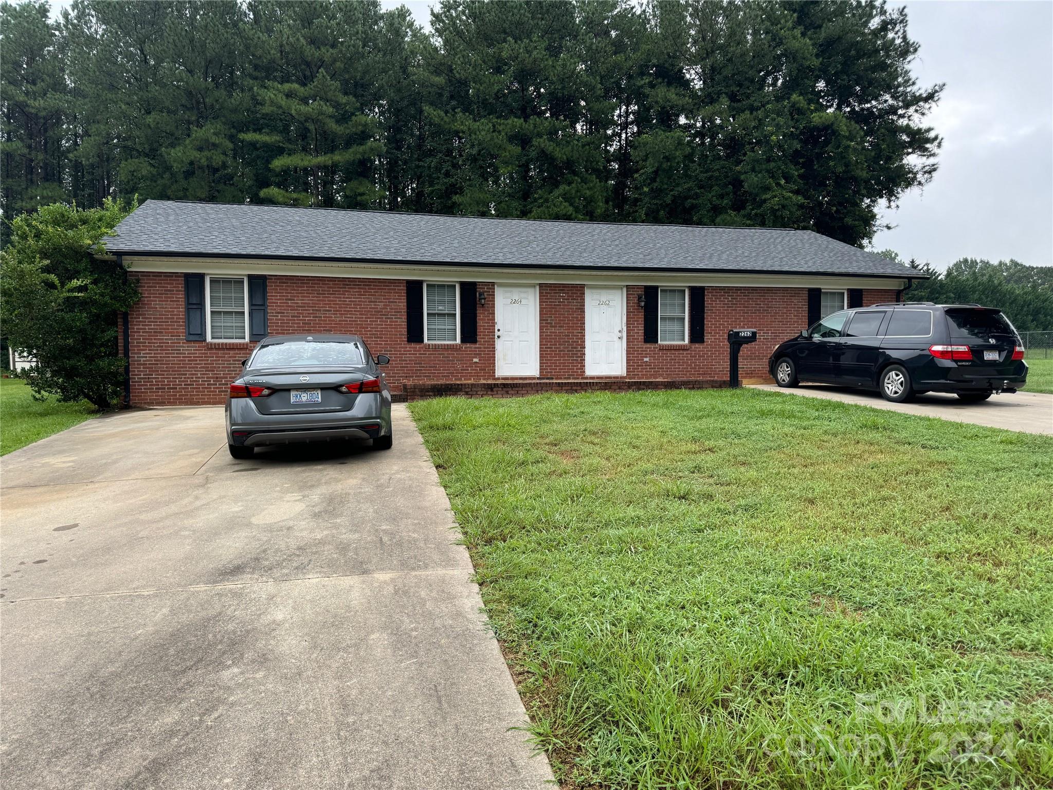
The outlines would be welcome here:
M 235 461 L 222 424 L 128 412 L 0 461 L 4 785 L 551 781 L 405 408 L 389 452 Z

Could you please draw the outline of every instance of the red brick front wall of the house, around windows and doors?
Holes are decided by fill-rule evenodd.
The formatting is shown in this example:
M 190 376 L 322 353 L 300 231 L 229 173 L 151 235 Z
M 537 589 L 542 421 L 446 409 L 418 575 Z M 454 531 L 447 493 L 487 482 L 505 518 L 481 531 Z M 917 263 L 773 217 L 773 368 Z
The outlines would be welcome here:
M 132 403 L 222 402 L 255 343 L 187 342 L 183 275 L 136 276 L 142 298 L 131 313 Z M 478 289 L 486 294 L 486 304 L 477 308 L 477 343 L 406 342 L 403 280 L 270 276 L 269 330 L 361 335 L 375 355 L 391 356 L 385 373 L 396 392 L 403 383 L 489 381 L 495 378 L 494 284 L 480 282 Z M 541 378 L 584 378 L 584 285 L 541 283 L 538 291 Z M 763 378 L 772 349 L 808 320 L 806 289 L 710 287 L 704 343 L 644 343 L 643 311 L 637 304 L 642 285 L 625 291 L 628 375 L 615 380 L 726 380 L 731 329 L 760 331 L 759 340 L 743 349 L 739 364 L 743 379 Z M 895 295 L 868 290 L 863 303 L 893 301 Z

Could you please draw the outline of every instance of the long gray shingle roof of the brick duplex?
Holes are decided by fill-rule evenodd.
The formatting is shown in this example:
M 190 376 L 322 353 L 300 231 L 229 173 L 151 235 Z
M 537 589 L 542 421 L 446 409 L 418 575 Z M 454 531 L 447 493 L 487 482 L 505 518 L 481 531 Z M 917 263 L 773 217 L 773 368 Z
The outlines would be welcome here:
M 811 231 L 147 200 L 111 253 L 555 269 L 919 277 Z

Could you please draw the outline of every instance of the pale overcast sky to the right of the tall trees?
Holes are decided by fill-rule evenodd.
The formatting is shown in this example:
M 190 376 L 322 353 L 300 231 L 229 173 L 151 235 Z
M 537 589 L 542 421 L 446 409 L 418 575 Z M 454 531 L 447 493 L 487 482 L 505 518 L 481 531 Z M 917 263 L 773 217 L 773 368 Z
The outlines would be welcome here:
M 943 268 L 961 257 L 1053 264 L 1053 3 L 907 3 L 921 84 L 946 82 L 923 192 L 886 212 L 878 250 Z

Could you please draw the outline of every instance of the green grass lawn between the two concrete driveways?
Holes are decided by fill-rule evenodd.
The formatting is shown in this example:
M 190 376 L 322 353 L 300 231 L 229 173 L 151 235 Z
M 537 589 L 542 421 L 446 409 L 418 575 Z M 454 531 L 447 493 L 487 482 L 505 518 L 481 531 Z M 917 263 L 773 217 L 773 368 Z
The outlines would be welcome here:
M 411 409 L 564 787 L 1053 787 L 1053 439 L 752 390 Z

